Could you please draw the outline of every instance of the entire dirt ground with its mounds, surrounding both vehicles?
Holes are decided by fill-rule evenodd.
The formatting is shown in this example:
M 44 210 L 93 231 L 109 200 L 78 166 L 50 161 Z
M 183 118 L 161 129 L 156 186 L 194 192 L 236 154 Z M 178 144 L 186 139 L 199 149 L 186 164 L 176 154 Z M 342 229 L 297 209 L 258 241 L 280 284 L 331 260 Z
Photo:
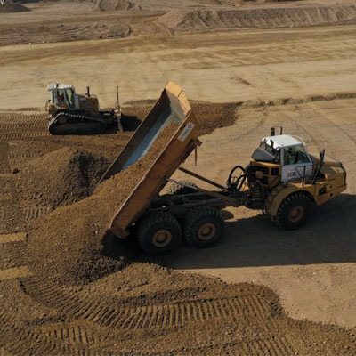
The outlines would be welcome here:
M 352 3 L 1 2 L 0 355 L 356 354 Z M 137 122 L 168 79 L 201 126 L 183 166 L 224 184 L 283 126 L 342 160 L 348 189 L 298 231 L 230 208 L 206 249 L 117 239 L 109 223 L 170 128 L 100 182 L 134 125 L 52 136 L 45 85 L 91 85 L 102 107 L 119 85 Z

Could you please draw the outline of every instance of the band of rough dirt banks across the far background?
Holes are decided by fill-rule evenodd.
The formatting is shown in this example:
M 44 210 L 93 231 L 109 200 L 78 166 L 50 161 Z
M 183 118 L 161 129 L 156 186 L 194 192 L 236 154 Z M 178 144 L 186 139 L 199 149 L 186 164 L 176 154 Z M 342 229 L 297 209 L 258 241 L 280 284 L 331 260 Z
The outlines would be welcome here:
M 332 3 L 297 1 L 275 3 L 235 2 L 140 2 L 101 0 L 70 2 L 70 12 L 58 1 L 7 2 L 0 13 L 12 16 L 0 24 L 0 45 L 39 44 L 120 38 L 170 36 L 178 33 L 239 30 L 241 28 L 300 28 L 355 23 L 356 7 L 349 1 Z M 31 12 L 30 21 L 26 12 Z M 32 14 L 33 12 L 33 14 Z M 42 23 L 36 16 L 48 20 Z M 133 14 L 133 16 L 130 15 Z M 61 18 L 61 23 L 57 19 Z M 11 36 L 9 36 L 11 30 Z

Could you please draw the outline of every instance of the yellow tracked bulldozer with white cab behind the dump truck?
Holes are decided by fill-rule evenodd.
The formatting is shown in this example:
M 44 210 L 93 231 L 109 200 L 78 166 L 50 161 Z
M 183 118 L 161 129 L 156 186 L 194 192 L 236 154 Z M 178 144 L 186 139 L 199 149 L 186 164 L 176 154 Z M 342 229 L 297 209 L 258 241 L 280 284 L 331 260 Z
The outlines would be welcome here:
M 101 134 L 108 125 L 117 125 L 123 131 L 118 87 L 115 109 L 110 110 L 100 109 L 98 97 L 90 93 L 89 87 L 85 94 L 77 94 L 74 85 L 50 83 L 47 90 L 51 99 L 46 102 L 45 111 L 51 134 Z

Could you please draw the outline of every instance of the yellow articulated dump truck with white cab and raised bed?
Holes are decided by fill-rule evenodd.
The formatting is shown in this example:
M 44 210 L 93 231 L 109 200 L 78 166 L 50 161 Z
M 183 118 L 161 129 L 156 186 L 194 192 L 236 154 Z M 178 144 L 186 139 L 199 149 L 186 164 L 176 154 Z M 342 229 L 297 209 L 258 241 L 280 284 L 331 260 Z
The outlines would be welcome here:
M 261 210 L 287 230 L 301 227 L 314 206 L 346 189 L 346 172 L 341 162 L 326 157 L 324 151 L 319 157 L 313 156 L 302 139 L 279 129 L 280 134 L 272 128 L 271 135 L 263 138 L 247 166 L 233 166 L 226 185 L 213 182 L 180 167 L 201 142 L 198 121 L 185 93 L 168 82 L 101 178 L 136 164 L 168 133 L 162 150 L 113 216 L 109 229 L 119 239 L 135 235 L 144 251 L 159 254 L 178 247 L 182 238 L 192 247 L 214 244 L 223 236 L 221 211 L 228 206 Z M 191 181 L 172 180 L 177 169 L 207 182 L 214 190 L 199 188 Z M 170 189 L 160 194 L 168 182 Z

